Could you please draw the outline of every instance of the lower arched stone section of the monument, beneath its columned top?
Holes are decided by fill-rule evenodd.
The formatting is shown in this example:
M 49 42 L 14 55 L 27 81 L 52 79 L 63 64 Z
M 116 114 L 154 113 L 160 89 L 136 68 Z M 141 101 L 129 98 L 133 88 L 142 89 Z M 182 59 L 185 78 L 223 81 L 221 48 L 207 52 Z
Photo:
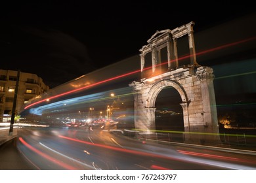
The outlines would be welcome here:
M 176 69 L 149 79 L 133 82 L 135 127 L 151 133 L 156 129 L 156 99 L 163 88 L 171 86 L 181 96 L 184 139 L 186 142 L 219 141 L 213 87 L 213 70 L 209 67 Z

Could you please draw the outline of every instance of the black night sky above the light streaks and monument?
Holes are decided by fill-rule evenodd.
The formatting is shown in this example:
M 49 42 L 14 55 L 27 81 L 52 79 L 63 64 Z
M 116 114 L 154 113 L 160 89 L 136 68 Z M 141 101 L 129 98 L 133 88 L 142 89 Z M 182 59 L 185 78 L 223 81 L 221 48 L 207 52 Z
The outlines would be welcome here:
M 157 30 L 194 21 L 199 32 L 253 8 L 248 3 L 184 7 L 171 1 L 5 2 L 0 9 L 0 69 L 34 73 L 53 88 L 140 54 Z

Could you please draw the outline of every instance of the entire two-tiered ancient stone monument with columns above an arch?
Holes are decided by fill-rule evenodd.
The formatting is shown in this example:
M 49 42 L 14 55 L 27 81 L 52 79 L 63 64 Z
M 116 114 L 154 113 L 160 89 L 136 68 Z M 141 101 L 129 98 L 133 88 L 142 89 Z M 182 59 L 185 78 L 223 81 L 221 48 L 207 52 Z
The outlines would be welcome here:
M 163 88 L 171 86 L 181 95 L 185 142 L 219 141 L 213 69 L 196 61 L 193 26 L 190 22 L 173 30 L 156 31 L 140 49 L 141 79 L 129 85 L 135 99 L 135 128 L 144 133 L 156 129 L 156 98 Z M 188 35 L 190 64 L 179 67 L 177 41 L 184 35 Z M 167 48 L 167 63 L 161 63 L 163 48 Z M 150 67 L 145 67 L 146 54 L 151 54 Z

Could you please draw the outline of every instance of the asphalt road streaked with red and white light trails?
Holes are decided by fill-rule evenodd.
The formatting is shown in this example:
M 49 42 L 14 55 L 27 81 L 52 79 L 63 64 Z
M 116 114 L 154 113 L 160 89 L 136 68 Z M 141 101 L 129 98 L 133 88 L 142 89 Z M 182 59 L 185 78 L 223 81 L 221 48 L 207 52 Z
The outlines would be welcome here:
M 157 144 L 100 129 L 19 129 L 1 146 L 0 169 L 256 169 L 255 153 Z

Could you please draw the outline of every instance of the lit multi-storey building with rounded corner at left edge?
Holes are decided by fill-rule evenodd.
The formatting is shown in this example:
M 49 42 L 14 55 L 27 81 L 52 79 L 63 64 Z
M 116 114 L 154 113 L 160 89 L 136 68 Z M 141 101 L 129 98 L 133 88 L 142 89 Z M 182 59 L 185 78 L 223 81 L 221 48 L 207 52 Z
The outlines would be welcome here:
M 35 74 L 0 69 L 0 122 L 11 121 L 16 82 L 16 114 L 30 99 L 49 90 L 49 86 Z

